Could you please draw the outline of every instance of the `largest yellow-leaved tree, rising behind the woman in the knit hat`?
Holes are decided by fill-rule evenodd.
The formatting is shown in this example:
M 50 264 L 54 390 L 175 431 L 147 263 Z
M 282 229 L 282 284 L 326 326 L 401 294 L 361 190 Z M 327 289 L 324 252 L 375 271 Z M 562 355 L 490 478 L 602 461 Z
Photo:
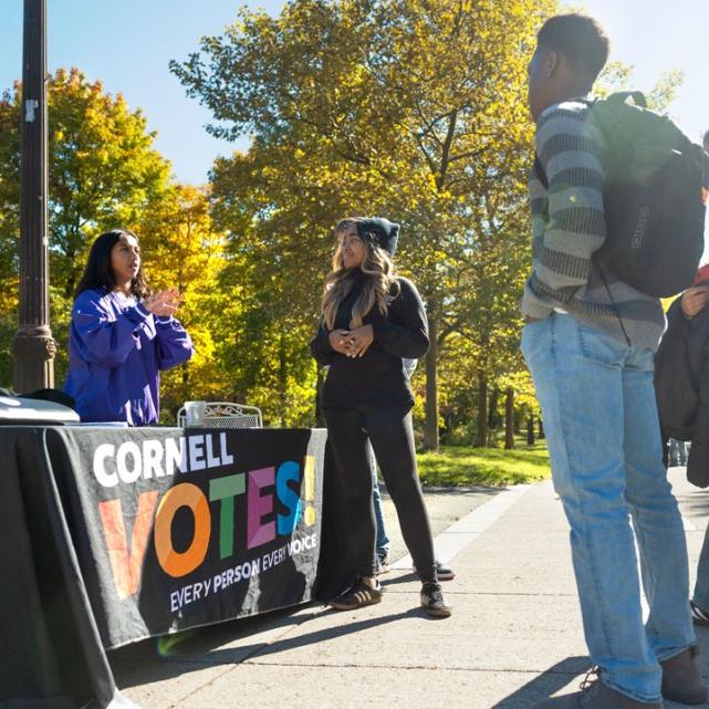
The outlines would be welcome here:
M 325 249 L 309 247 L 303 258 L 303 231 L 323 233 L 355 210 L 404 222 L 400 263 L 419 284 L 431 335 L 428 448 L 438 446 L 441 347 L 465 325 L 471 330 L 476 301 L 468 295 L 487 282 L 481 264 L 496 268 L 491 253 L 522 231 L 525 65 L 534 30 L 554 7 L 294 0 L 278 19 L 241 10 L 222 37 L 171 63 L 188 95 L 211 110 L 212 134 L 253 136 L 247 156 L 217 166 L 215 194 L 242 210 L 232 241 L 274 249 L 283 272 L 298 273 L 298 286 L 282 290 L 293 304 L 282 303 L 283 312 L 313 320 L 324 273 L 312 264 Z M 222 178 L 230 171 L 241 181 L 229 187 Z

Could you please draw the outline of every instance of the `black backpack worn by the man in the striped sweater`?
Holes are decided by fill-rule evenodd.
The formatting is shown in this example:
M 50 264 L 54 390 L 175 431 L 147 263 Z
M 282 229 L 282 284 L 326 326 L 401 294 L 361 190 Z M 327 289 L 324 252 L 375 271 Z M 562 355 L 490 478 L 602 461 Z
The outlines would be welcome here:
M 594 258 L 644 293 L 679 293 L 703 253 L 707 155 L 639 92 L 596 100 L 588 121 L 607 145 L 607 238 Z

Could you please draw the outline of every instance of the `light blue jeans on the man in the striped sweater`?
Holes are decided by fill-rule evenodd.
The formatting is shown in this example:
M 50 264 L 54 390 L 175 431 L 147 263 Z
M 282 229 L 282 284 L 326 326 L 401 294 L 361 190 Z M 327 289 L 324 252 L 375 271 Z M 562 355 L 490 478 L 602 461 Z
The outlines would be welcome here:
M 613 689 L 659 701 L 659 661 L 694 645 L 695 635 L 687 543 L 663 465 L 653 353 L 556 313 L 525 325 L 522 352 L 571 525 L 591 659 Z M 645 626 L 628 518 L 650 608 Z

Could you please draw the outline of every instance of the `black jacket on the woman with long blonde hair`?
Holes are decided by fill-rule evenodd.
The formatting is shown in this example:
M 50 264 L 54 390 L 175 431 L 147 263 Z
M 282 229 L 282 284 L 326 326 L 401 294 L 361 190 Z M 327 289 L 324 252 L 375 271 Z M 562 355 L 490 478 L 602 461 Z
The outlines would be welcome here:
M 350 278 L 355 284 L 340 304 L 333 330 L 350 330 L 352 307 L 367 277 L 358 269 Z M 321 322 L 311 353 L 321 365 L 330 365 L 323 386 L 323 408 L 350 408 L 361 405 L 413 405 L 414 397 L 404 373 L 404 357 L 417 359 L 428 351 L 428 321 L 424 303 L 411 281 L 398 279 L 399 291 L 393 294 L 386 316 L 373 307 L 364 324 L 372 325 L 374 341 L 362 357 L 347 357 L 330 346 L 332 331 Z

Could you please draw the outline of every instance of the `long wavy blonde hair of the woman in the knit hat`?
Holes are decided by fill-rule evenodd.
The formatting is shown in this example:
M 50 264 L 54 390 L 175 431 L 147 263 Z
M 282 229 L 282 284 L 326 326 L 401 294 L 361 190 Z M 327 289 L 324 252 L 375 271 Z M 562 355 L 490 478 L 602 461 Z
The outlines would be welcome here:
M 356 217 L 341 219 L 335 226 L 335 237 L 362 221 Z M 394 263 L 388 252 L 367 240 L 364 241 L 364 261 L 358 268 L 368 278 L 365 279 L 362 293 L 359 293 L 359 298 L 357 298 L 352 307 L 352 321 L 350 322 L 350 327 L 352 329 L 361 327 L 365 315 L 375 305 L 386 316 L 388 312 L 387 298 L 392 294 L 396 295 L 399 288 Z M 329 330 L 334 327 L 340 304 L 354 288 L 353 271 L 355 269 L 345 269 L 342 246 L 338 244 L 332 259 L 332 271 L 325 279 L 325 290 L 321 304 L 323 319 Z

